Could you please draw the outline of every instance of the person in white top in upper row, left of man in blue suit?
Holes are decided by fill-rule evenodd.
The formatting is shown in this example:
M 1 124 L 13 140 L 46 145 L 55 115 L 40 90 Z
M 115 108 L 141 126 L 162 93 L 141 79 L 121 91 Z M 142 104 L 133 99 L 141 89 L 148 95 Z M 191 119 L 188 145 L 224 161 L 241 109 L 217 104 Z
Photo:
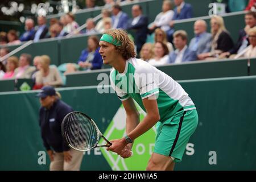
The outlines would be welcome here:
M 162 12 L 156 15 L 154 22 L 148 28 L 150 32 L 154 32 L 156 28 L 161 28 L 163 31 L 170 30 L 169 23 L 174 18 L 174 11 L 172 10 L 172 2 L 164 0 L 162 5 Z

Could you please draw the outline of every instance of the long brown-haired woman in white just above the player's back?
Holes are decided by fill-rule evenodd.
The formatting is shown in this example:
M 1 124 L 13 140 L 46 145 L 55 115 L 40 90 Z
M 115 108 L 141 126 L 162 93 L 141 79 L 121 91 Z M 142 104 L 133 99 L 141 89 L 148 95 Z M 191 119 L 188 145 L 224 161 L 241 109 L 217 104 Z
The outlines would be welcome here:
M 169 50 L 163 42 L 156 42 L 154 46 L 154 57 L 148 60 L 148 63 L 154 66 L 164 65 L 168 63 Z

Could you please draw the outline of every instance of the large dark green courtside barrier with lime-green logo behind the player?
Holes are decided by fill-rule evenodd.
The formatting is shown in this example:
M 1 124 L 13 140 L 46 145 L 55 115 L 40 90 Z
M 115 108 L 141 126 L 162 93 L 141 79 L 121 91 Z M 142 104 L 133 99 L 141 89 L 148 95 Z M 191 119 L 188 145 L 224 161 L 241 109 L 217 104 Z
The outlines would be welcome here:
M 256 169 L 256 76 L 180 81 L 195 102 L 199 125 L 176 170 L 255 170 Z M 109 90 L 109 87 L 106 87 Z M 125 132 L 118 122 L 125 121 L 121 101 L 115 94 L 100 94 L 96 86 L 58 89 L 73 109 L 87 113 L 105 137 Z M 37 92 L 0 93 L 0 170 L 48 170 L 40 165 L 44 147 L 38 124 Z M 141 113 L 141 119 L 143 113 Z M 144 170 L 154 148 L 154 131 L 137 139 L 133 157 L 118 159 L 104 148 L 86 152 L 82 170 Z M 212 151 L 216 164 L 210 164 Z M 107 155 L 108 154 L 108 155 Z M 237 157 L 239 156 L 239 157 Z M 234 160 L 236 159 L 236 160 Z M 139 161 L 139 163 L 138 163 Z M 214 162 L 214 160 L 213 160 Z M 101 164 L 101 165 L 98 165 Z

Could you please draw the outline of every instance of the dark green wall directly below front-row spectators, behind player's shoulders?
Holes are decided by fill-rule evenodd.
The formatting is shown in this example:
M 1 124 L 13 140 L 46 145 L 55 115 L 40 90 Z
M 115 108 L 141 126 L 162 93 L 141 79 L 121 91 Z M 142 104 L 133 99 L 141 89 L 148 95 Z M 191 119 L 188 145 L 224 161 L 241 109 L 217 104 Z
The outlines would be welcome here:
M 256 75 L 256 59 L 251 59 L 250 75 Z M 193 61 L 191 63 L 170 64 L 158 67 L 175 80 L 191 80 L 201 78 L 220 78 L 247 76 L 247 59 L 241 60 L 219 60 L 219 61 Z M 110 69 L 104 71 L 76 72 L 67 75 L 66 86 L 89 86 L 98 85 L 102 78 L 98 75 L 102 73 L 109 75 Z M 97 79 L 98 78 L 98 79 Z

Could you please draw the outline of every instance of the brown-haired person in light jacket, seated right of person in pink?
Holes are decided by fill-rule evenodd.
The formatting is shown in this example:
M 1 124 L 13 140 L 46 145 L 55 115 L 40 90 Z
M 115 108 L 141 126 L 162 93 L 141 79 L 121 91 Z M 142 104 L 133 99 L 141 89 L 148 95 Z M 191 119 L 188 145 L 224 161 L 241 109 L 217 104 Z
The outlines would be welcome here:
M 31 78 L 32 72 L 35 71 L 35 68 L 30 66 L 31 60 L 32 57 L 28 53 L 19 56 L 19 67 L 14 71 L 16 78 Z

